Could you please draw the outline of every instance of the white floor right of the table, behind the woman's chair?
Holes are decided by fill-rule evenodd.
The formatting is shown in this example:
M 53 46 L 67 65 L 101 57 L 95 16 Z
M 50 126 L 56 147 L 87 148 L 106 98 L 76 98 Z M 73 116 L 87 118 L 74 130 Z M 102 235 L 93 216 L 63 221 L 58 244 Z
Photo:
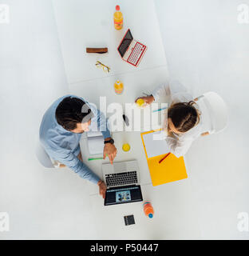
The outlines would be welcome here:
M 227 102 L 227 130 L 188 151 L 193 203 L 202 238 L 249 238 L 237 214 L 249 213 L 249 24 L 239 0 L 155 0 L 168 69 L 195 96 L 215 91 Z

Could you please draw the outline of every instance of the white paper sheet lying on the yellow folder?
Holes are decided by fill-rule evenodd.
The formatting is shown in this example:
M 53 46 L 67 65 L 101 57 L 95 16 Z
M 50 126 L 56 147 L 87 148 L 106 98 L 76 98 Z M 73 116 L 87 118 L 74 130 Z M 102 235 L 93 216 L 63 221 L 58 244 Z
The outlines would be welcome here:
M 143 138 L 148 158 L 169 152 L 168 144 L 164 138 L 164 132 L 161 130 L 144 134 Z

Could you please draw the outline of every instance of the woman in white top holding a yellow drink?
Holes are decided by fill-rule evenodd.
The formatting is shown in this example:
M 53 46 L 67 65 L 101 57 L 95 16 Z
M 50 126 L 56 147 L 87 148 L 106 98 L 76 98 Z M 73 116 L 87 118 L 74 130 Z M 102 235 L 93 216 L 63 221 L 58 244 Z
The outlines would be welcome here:
M 168 103 L 168 117 L 164 118 L 163 125 L 165 139 L 170 152 L 177 158 L 186 154 L 192 142 L 203 132 L 199 106 L 188 90 L 180 82 L 172 81 L 156 88 L 152 95 L 141 98 L 144 106 L 159 98 Z

